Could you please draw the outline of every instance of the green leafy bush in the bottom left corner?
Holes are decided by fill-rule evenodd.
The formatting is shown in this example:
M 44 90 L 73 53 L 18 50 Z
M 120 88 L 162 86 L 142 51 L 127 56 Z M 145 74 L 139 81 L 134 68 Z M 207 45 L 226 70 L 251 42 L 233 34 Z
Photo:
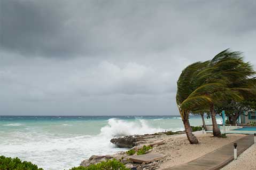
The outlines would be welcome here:
M 10 158 L 0 156 L 0 169 L 1 170 L 43 170 L 38 168 L 37 165 L 28 161 L 21 161 L 19 158 Z

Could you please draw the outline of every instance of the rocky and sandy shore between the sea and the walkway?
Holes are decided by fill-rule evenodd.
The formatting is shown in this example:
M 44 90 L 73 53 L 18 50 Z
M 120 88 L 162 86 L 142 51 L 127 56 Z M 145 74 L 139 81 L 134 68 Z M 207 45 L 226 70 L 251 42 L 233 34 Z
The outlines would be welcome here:
M 122 151 L 113 155 L 91 156 L 89 159 L 83 160 L 81 166 L 89 166 L 102 161 L 116 159 L 125 164 L 127 168 L 131 169 L 165 169 L 197 159 L 204 156 L 206 153 L 221 148 L 223 145 L 234 142 L 244 136 L 242 134 L 227 134 L 227 138 L 218 138 L 211 137 L 212 134 L 197 131 L 194 132 L 194 134 L 197 136 L 200 143 L 192 145 L 187 140 L 184 132 L 179 132 L 178 134 L 171 133 L 172 135 L 167 134 L 170 133 L 163 132 L 134 136 L 117 136 L 111 139 L 111 142 L 117 145 L 117 147 L 128 147 L 135 151 L 141 149 L 143 145 L 150 146 L 145 156 L 163 155 L 161 159 L 157 159 L 156 161 L 136 163 L 132 161 L 134 157 L 137 157 L 136 153 L 134 155 L 128 155 L 127 152 Z

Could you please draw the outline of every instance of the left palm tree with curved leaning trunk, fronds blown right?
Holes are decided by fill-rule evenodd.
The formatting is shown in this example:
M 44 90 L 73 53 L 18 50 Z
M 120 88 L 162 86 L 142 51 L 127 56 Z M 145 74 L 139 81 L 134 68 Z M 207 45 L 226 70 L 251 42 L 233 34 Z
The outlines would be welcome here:
M 191 144 L 197 144 L 198 140 L 196 136 L 192 134 L 192 129 L 189 124 L 190 112 L 197 111 L 198 108 L 202 110 L 209 108 L 209 103 L 212 102 L 212 99 L 211 96 L 205 94 L 205 92 L 212 94 L 223 87 L 221 81 L 207 81 L 207 77 L 205 77 L 204 74 L 199 74 L 199 72 L 206 69 L 208 65 L 209 61 L 191 64 L 182 71 L 177 81 L 176 102 L 185 127 L 185 132 Z

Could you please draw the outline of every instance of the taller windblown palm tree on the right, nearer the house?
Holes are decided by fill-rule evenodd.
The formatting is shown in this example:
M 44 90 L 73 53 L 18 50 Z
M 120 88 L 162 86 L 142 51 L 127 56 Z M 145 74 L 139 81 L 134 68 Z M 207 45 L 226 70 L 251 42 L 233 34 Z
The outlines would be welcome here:
M 252 91 L 252 86 L 245 86 L 244 82 L 255 74 L 252 65 L 243 61 L 241 52 L 231 52 L 229 49 L 224 50 L 214 56 L 209 66 L 202 70 L 199 75 L 208 77 L 207 81 L 222 80 L 225 86 L 214 93 L 210 94 L 213 99 L 210 102 L 210 112 L 213 124 L 213 135 L 220 136 L 221 132 L 216 123 L 214 105 L 221 104 L 223 101 L 235 100 L 241 101 L 244 92 Z M 206 92 L 207 94 L 207 92 Z

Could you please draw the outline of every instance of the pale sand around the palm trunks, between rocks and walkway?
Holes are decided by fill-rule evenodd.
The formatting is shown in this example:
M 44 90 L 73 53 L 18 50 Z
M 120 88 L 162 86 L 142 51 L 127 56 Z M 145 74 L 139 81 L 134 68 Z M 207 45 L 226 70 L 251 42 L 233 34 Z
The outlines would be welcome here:
M 162 160 L 159 169 L 188 163 L 191 160 L 204 156 L 206 153 L 223 147 L 223 145 L 234 142 L 245 135 L 228 134 L 227 138 L 218 138 L 212 137 L 212 134 L 202 134 L 201 132 L 198 132 L 196 133 L 196 136 L 200 142 L 199 144 L 189 144 L 185 134 L 164 137 L 166 144 L 159 145 L 158 147 L 153 148 L 152 151 L 166 155 L 165 159 Z

